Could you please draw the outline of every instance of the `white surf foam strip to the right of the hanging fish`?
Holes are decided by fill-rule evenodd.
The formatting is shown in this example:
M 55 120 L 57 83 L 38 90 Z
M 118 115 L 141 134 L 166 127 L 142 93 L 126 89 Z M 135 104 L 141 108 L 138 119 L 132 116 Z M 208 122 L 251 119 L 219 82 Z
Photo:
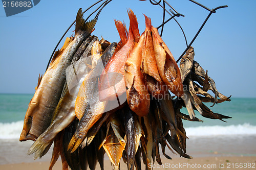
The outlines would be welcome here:
M 256 135 L 256 126 L 250 124 L 230 126 L 199 126 L 185 127 L 189 136 L 220 136 L 220 135 Z

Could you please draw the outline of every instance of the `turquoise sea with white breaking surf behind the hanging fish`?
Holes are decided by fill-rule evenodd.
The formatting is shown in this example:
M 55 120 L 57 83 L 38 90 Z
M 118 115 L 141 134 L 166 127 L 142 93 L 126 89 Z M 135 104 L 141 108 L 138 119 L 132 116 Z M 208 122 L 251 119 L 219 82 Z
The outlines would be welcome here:
M 24 117 L 33 94 L 0 94 L 0 139 L 18 139 L 23 128 Z M 204 122 L 183 120 L 186 135 L 215 136 L 215 135 L 256 135 L 256 99 L 231 98 L 210 107 L 215 113 L 232 118 L 209 119 L 195 111 L 196 117 Z M 181 109 L 187 114 L 186 108 Z

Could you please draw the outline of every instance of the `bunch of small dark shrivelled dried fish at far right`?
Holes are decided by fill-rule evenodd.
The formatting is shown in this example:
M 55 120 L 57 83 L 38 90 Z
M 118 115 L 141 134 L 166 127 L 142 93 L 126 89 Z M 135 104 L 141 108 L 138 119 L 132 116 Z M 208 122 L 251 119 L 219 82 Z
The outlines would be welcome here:
M 194 109 L 197 110 L 202 116 L 207 118 L 220 120 L 223 118 L 231 118 L 229 116 L 214 113 L 203 104 L 203 102 L 211 102 L 213 103 L 212 106 L 214 106 L 216 103 L 230 101 L 229 98 L 231 96 L 227 97 L 216 89 L 214 80 L 208 77 L 207 70 L 206 72 L 204 71 L 199 63 L 194 60 L 194 56 L 194 48 L 190 47 L 180 62 L 184 90 L 182 99 L 189 113 L 189 118 L 186 119 L 195 119 Z M 208 90 L 211 90 L 215 94 L 215 97 L 207 93 Z M 218 97 L 220 99 L 218 99 Z M 182 105 L 181 102 L 178 100 L 175 102 L 176 108 L 180 108 L 178 105 Z M 196 119 L 199 120 L 198 118 Z

